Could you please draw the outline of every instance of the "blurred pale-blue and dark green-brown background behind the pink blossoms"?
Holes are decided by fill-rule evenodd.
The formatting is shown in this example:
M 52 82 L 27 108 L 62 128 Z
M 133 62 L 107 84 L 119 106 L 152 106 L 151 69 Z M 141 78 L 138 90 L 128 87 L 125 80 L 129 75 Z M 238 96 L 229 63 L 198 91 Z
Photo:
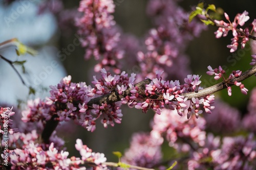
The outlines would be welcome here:
M 124 34 L 132 34 L 143 40 L 148 30 L 153 28 L 151 18 L 146 15 L 146 0 L 114 0 L 116 8 L 114 18 Z M 202 2 L 202 1 L 200 1 Z M 179 1 L 187 11 L 200 3 L 199 1 Z M 205 1 L 222 8 L 232 19 L 237 13 L 248 11 L 251 22 L 256 18 L 255 1 Z M 25 10 L 21 7 L 23 6 Z M 38 56 L 20 56 L 20 60 L 27 60 L 25 67 L 27 74 L 22 74 L 28 84 L 38 91 L 36 95 L 28 96 L 28 88 L 22 84 L 15 71 L 5 61 L 0 62 L 0 102 L 8 106 L 17 106 L 17 100 L 26 101 L 39 97 L 44 99 L 49 95 L 46 90 L 49 85 L 56 85 L 61 78 L 71 75 L 72 82 L 87 82 L 91 84 L 96 61 L 92 58 L 84 60 L 84 48 L 75 45 L 72 52 L 65 52 L 70 44 L 74 44 L 78 35 L 74 26 L 74 17 L 78 16 L 79 1 L 1 1 L 0 3 L 0 41 L 18 38 L 24 44 L 34 47 Z M 49 8 L 50 7 L 50 8 Z M 206 75 L 207 66 L 212 68 L 226 66 L 229 71 L 250 68 L 251 48 L 247 44 L 246 50 L 238 50 L 231 54 L 226 45 L 230 44 L 231 34 L 225 38 L 216 39 L 216 27 L 209 26 L 201 36 L 189 43 L 186 54 L 190 58 L 191 74 L 202 75 L 202 84 L 205 87 L 214 85 L 212 77 Z M 239 46 L 240 48 L 240 46 Z M 6 48 L 0 53 L 10 60 L 17 59 L 14 48 Z M 254 51 L 256 53 L 256 51 Z M 62 55 L 60 57 L 60 55 Z M 237 60 L 229 56 L 236 55 Z M 233 56 L 234 57 L 234 56 Z M 234 58 L 232 58 L 234 59 Z M 57 65 L 53 65 L 53 62 Z M 49 67 L 51 66 L 51 68 Z M 18 70 L 21 68 L 16 66 Z M 45 72 L 45 74 L 42 74 Z M 256 85 L 254 77 L 243 82 L 249 91 Z M 49 90 L 49 88 L 48 88 Z M 243 95 L 239 88 L 232 88 L 232 96 L 223 90 L 216 93 L 229 105 L 246 113 L 249 95 Z M 112 155 L 113 151 L 123 152 L 129 148 L 129 140 L 134 132 L 150 131 L 150 122 L 154 113 L 143 114 L 137 109 L 123 107 L 122 123 L 115 127 L 104 129 L 100 124 L 96 131 L 91 133 L 86 129 L 71 123 L 74 129 L 58 130 L 58 135 L 66 141 L 67 151 L 70 155 L 77 155 L 74 148 L 75 139 L 81 138 L 89 148 L 95 152 L 102 152 L 108 161 L 117 161 Z M 65 125 L 64 125 L 65 126 Z

